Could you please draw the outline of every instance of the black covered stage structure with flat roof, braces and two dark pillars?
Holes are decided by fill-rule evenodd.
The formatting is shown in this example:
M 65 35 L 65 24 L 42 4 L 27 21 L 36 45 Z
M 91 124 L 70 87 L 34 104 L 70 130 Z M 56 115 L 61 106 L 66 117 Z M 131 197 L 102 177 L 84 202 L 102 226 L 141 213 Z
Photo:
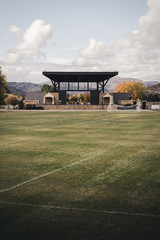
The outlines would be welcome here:
M 48 72 L 43 75 L 48 77 L 54 92 L 59 93 L 59 101 L 66 104 L 67 92 L 89 92 L 91 93 L 91 105 L 99 105 L 99 94 L 104 93 L 109 79 L 118 75 L 118 72 Z

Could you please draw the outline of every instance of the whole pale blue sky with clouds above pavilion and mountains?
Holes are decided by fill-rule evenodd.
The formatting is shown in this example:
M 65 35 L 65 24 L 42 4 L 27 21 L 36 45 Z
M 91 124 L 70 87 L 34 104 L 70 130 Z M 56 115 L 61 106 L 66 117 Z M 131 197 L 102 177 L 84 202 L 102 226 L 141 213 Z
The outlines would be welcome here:
M 160 0 L 0 0 L 0 66 L 9 82 L 42 71 L 118 71 L 160 81 Z

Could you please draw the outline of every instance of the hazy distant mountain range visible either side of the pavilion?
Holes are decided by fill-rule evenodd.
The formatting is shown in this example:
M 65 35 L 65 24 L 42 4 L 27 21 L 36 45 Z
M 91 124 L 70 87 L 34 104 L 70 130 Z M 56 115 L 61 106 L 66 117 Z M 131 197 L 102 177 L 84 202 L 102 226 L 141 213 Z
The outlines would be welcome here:
M 113 92 L 115 87 L 120 84 L 122 81 L 128 82 L 128 81 L 140 81 L 142 82 L 146 87 L 149 87 L 149 89 L 152 91 L 152 86 L 155 86 L 157 84 L 160 85 L 159 82 L 152 81 L 152 82 L 145 82 L 139 79 L 135 78 L 122 78 L 122 77 L 114 77 L 109 80 L 109 82 L 106 85 L 106 89 L 108 92 Z M 8 82 L 8 89 L 10 93 L 19 94 L 19 95 L 26 95 L 27 92 L 41 92 L 41 87 L 43 84 L 49 84 L 51 85 L 50 81 L 36 84 L 31 82 Z M 154 91 L 156 91 L 157 88 L 154 88 Z

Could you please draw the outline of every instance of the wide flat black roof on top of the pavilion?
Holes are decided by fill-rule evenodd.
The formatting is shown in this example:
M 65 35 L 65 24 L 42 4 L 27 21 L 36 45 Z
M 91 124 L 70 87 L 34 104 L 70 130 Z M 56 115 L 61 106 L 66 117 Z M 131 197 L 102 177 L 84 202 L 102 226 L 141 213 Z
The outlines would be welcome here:
M 56 82 L 104 82 L 118 72 L 47 72 L 43 75 Z

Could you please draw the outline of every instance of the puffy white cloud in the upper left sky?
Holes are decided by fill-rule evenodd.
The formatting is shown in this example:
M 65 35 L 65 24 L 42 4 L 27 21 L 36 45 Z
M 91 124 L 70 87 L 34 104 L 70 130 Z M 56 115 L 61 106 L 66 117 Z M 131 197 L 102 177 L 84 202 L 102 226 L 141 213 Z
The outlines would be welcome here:
M 43 55 L 41 49 L 52 37 L 51 25 L 45 25 L 43 20 L 35 20 L 24 33 L 15 25 L 10 26 L 9 30 L 21 37 L 21 43 L 7 52 L 5 63 L 33 60 L 34 57 Z

